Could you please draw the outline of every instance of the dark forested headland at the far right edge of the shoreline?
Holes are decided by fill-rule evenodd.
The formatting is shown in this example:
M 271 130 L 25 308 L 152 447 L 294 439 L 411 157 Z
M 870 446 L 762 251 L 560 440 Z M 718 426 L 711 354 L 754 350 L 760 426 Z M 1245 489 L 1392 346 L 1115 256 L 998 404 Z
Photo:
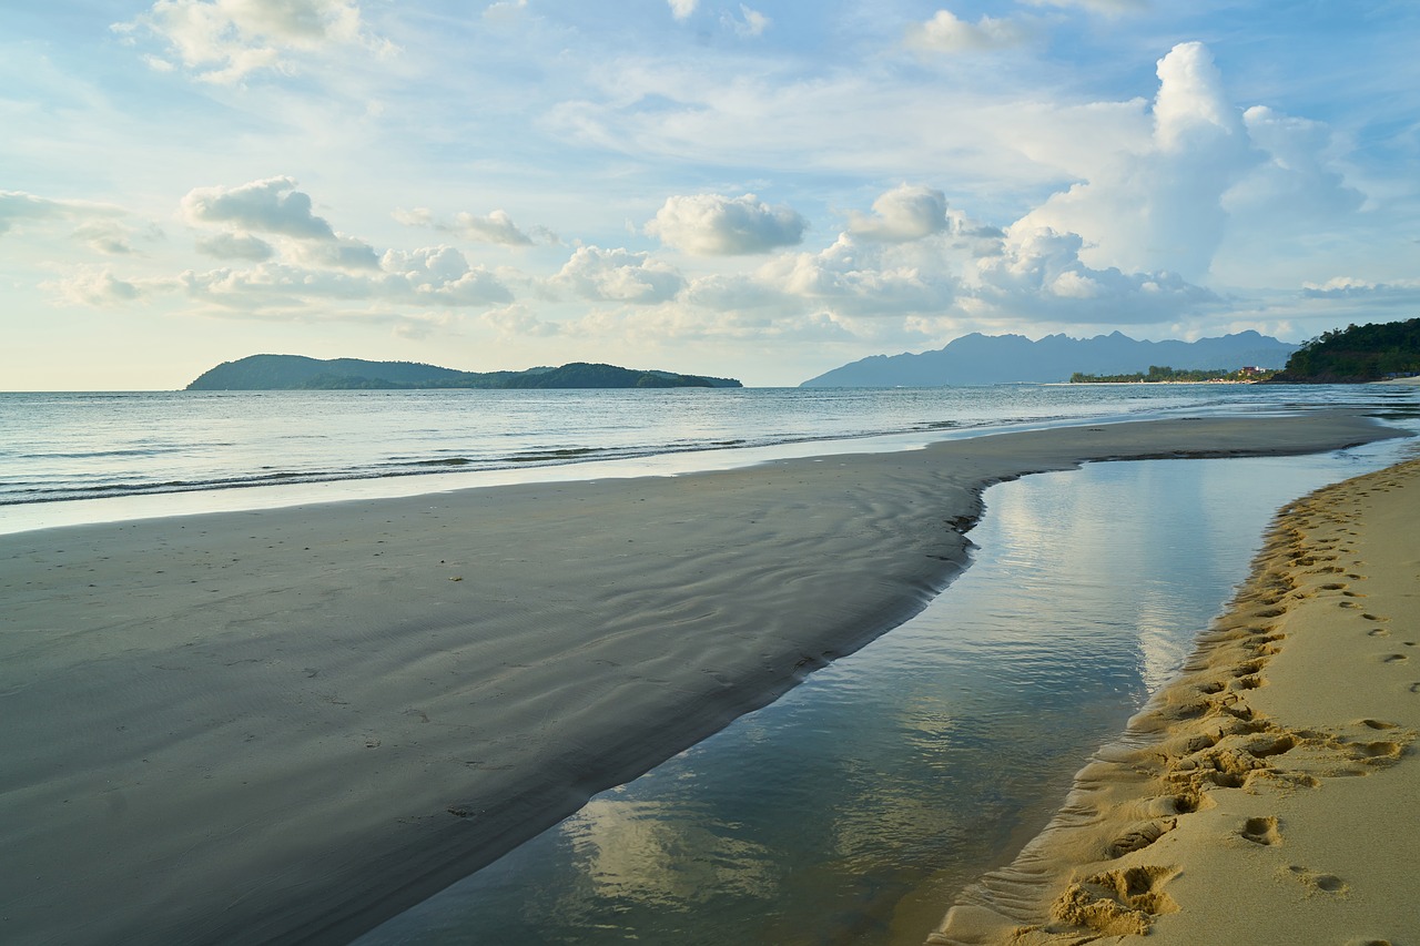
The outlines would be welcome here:
M 1420 374 L 1420 318 L 1348 325 L 1302 342 L 1272 384 L 1362 384 Z

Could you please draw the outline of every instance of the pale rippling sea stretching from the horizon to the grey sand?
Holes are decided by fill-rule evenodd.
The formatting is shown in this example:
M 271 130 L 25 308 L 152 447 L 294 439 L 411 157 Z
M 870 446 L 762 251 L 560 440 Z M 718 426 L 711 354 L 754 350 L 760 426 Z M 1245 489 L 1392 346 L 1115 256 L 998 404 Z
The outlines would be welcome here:
M 755 462 L 767 452 L 848 449 L 825 450 L 828 440 L 900 449 L 1001 428 L 1413 399 L 1410 388 L 1254 385 L 0 393 L 0 507 L 210 497 L 278 484 L 389 484 L 420 474 L 443 476 L 439 486 L 426 479 L 400 487 L 446 489 L 527 479 L 548 467 L 598 463 L 606 470 L 616 460 L 630 460 L 621 464 L 628 470 L 659 462 L 655 469 L 674 472 Z M 562 473 L 589 476 L 582 469 Z M 246 500 L 226 497 L 229 507 L 283 494 L 244 491 Z M 199 507 L 189 501 L 180 509 Z M 101 514 L 98 509 L 81 507 L 77 518 Z M 169 507 L 141 509 L 160 514 Z M 31 513 L 26 527 L 45 521 Z

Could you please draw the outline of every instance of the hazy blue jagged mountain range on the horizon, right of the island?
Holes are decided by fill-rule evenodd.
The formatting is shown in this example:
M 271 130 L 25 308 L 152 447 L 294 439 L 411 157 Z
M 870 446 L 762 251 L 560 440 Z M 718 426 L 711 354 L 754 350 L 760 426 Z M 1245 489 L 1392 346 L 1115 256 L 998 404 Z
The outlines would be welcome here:
M 1095 338 L 973 332 L 920 355 L 872 355 L 809 378 L 801 388 L 936 388 L 1064 382 L 1075 372 L 1123 375 L 1152 365 L 1233 371 L 1251 365 L 1281 368 L 1296 345 L 1254 331 L 1184 341 L 1137 341 L 1122 332 Z

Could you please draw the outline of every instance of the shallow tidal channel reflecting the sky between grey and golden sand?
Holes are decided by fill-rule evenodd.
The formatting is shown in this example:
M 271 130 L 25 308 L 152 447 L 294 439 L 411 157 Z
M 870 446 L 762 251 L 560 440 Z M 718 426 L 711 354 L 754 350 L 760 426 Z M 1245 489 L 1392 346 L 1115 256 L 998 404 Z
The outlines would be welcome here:
M 1272 510 L 1397 449 L 994 487 L 922 615 L 361 946 L 920 940 L 1174 672 Z

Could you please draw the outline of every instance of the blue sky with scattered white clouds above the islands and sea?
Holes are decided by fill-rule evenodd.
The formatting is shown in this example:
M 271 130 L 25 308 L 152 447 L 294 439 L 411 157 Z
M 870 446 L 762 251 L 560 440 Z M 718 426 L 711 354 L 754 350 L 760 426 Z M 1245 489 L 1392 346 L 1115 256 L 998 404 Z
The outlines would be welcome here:
M 1414 0 L 0 0 L 0 389 L 1420 315 Z

